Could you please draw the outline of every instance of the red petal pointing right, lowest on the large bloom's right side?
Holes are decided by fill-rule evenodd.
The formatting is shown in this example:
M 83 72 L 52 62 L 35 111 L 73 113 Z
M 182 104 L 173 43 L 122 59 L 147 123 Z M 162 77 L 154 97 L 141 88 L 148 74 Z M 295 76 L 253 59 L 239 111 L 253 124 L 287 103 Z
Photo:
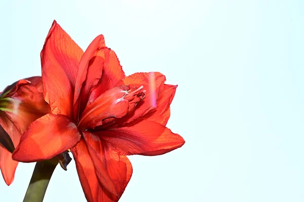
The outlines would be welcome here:
M 150 120 L 95 133 L 119 149 L 121 155 L 160 155 L 181 147 L 185 142 L 178 134 Z

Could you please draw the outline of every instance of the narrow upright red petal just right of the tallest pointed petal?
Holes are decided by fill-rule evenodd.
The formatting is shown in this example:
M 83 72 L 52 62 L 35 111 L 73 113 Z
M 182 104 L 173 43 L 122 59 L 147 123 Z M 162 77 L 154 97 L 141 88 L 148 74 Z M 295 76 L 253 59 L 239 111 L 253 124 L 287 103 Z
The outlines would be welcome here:
M 74 94 L 74 120 L 78 120 L 88 103 L 92 88 L 98 84 L 101 78 L 105 49 L 107 48 L 104 44 L 104 37 L 99 35 L 81 58 Z

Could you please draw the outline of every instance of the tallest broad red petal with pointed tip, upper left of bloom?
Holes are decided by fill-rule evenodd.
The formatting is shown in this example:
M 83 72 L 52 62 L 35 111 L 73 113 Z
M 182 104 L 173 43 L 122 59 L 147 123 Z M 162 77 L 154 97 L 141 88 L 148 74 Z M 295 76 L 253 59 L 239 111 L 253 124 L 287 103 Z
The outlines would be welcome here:
M 54 21 L 41 52 L 45 100 L 54 114 L 72 117 L 73 94 L 81 48 Z

